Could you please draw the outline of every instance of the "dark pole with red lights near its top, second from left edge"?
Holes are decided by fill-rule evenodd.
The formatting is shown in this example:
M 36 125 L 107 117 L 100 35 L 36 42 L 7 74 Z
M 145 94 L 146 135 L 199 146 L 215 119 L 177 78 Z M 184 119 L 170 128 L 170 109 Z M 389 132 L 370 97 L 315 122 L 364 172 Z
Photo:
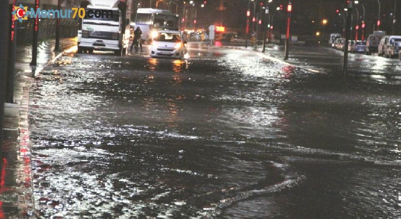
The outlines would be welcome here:
M 14 10 L 14 6 L 16 4 L 16 0 L 13 0 L 13 4 L 11 5 L 10 11 Z M 9 40 L 9 60 L 7 66 L 7 86 L 5 92 L 5 101 L 7 103 L 14 103 L 14 77 L 15 77 L 15 61 L 16 61 L 16 25 L 14 16 L 11 16 L 10 19 L 10 40 Z

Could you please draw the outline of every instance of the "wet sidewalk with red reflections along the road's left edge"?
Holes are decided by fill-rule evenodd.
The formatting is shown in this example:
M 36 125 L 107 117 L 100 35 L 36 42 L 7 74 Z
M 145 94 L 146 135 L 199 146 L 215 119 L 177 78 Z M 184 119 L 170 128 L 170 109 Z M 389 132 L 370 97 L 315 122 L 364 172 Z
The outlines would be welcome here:
M 60 39 L 60 50 L 76 45 L 74 38 Z M 36 67 L 29 66 L 32 46 L 18 46 L 14 104 L 5 104 L 4 141 L 0 145 L 0 219 L 34 217 L 31 149 L 29 144 L 29 86 L 35 74 L 53 58 L 54 39 L 38 43 Z

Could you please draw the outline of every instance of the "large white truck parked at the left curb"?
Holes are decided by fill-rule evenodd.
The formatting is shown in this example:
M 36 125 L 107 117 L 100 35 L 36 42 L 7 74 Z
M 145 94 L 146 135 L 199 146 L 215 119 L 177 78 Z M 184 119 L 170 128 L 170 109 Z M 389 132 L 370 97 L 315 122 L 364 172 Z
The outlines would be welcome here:
M 78 30 L 78 53 L 106 50 L 126 54 L 131 0 L 83 0 L 81 7 L 86 13 Z

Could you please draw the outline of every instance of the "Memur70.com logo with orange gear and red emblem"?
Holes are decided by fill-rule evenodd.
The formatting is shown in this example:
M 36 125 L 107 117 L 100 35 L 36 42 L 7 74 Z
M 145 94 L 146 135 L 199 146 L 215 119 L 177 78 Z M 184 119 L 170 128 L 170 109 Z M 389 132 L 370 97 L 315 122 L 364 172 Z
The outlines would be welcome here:
M 28 18 L 113 18 L 113 10 L 85 10 L 85 8 L 71 8 L 71 9 L 50 9 L 41 10 L 34 8 L 28 10 L 27 6 L 20 4 L 15 6 L 12 12 L 14 19 L 22 22 Z

